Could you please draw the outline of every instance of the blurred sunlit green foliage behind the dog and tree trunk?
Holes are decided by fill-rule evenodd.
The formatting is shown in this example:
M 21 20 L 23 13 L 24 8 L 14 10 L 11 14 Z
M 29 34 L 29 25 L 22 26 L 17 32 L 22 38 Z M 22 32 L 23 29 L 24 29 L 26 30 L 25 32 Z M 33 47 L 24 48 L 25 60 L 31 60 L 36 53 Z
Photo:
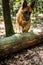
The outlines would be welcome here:
M 27 0 L 28 4 L 30 4 L 34 0 Z M 11 17 L 16 17 L 16 13 L 20 8 L 23 0 L 10 0 L 10 8 L 11 8 Z M 2 4 L 0 0 L 0 5 Z M 38 14 L 43 13 L 43 0 L 36 0 L 35 8 L 33 11 L 33 16 L 38 16 Z M 0 16 L 2 16 L 2 7 L 0 8 Z M 13 19 L 14 20 L 14 19 Z

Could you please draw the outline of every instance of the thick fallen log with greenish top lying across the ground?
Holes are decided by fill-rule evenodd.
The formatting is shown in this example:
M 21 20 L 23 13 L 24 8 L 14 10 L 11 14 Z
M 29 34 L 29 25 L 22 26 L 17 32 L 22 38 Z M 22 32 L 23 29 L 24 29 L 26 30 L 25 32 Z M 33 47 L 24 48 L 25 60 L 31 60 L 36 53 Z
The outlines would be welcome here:
M 40 42 L 43 42 L 43 34 L 36 35 L 33 32 L 15 34 L 0 39 L 0 57 Z

